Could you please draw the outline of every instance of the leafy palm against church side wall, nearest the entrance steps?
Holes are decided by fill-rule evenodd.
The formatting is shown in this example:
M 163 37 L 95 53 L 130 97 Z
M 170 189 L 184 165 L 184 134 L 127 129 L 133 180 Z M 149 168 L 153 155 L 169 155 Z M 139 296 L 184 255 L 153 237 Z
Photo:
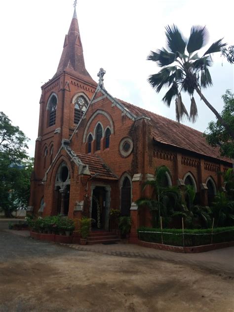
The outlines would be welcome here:
M 156 226 L 159 222 L 160 216 L 168 217 L 174 212 L 174 205 L 180 198 L 180 190 L 177 186 L 165 186 L 166 173 L 170 173 L 166 166 L 158 166 L 155 169 L 155 177 L 152 181 L 146 181 L 143 185 L 143 190 L 149 185 L 154 189 L 154 195 L 152 197 L 139 198 L 136 203 L 138 206 L 148 206 L 152 214 L 153 226 Z

